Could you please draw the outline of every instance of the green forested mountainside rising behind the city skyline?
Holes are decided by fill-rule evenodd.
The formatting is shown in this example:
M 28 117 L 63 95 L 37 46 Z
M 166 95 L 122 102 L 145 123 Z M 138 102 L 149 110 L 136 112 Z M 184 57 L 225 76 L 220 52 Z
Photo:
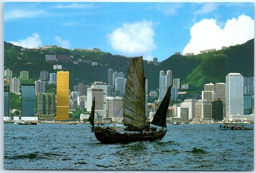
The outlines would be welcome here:
M 4 69 L 11 69 L 12 75 L 19 77 L 21 70 L 29 71 L 29 78 L 38 80 L 40 71 L 56 73 L 53 65 L 62 65 L 64 70 L 70 72 L 70 89 L 77 83 L 86 85 L 94 81 L 108 82 L 108 69 L 123 72 L 127 70 L 131 59 L 113 56 L 108 52 L 97 51 L 72 51 L 68 49 L 28 50 L 21 51 L 22 47 L 4 42 Z M 21 54 L 22 53 L 22 54 Z M 72 55 L 72 62 L 45 62 L 45 55 L 65 54 Z M 90 61 L 87 63 L 73 64 L 78 58 Z M 91 66 L 91 62 L 98 62 L 98 66 Z M 159 71 L 171 70 L 172 78 L 180 78 L 180 83 L 187 83 L 191 88 L 189 93 L 200 94 L 205 83 L 225 83 L 228 73 L 240 73 L 244 77 L 254 75 L 254 39 L 242 45 L 230 46 L 225 50 L 193 56 L 172 55 L 160 65 L 148 64 L 144 61 L 144 70 L 148 79 L 148 90 L 156 90 L 159 87 Z M 26 82 L 26 81 L 25 81 Z M 49 88 L 49 87 L 48 87 Z

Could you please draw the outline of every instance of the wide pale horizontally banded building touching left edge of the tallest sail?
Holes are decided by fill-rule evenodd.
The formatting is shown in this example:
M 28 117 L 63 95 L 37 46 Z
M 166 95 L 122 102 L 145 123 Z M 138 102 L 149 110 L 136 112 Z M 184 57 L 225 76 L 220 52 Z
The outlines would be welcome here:
M 124 98 L 108 98 L 108 117 L 117 118 L 124 115 Z

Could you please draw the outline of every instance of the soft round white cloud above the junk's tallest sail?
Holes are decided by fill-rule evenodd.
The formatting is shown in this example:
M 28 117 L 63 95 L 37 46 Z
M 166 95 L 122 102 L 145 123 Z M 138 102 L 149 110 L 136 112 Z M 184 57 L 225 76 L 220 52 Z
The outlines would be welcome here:
M 156 49 L 152 21 L 125 23 L 108 34 L 108 41 L 114 50 L 126 56 L 149 57 Z

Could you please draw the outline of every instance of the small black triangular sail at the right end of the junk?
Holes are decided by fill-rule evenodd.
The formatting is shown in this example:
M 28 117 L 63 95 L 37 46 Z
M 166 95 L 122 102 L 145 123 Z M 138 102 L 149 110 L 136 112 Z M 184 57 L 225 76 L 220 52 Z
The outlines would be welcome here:
M 163 101 L 161 102 L 159 108 L 156 111 L 156 114 L 151 122 L 151 124 L 159 126 L 159 127 L 166 127 L 166 114 L 169 107 L 169 102 L 171 98 L 171 89 L 172 86 L 169 87 L 167 90 Z

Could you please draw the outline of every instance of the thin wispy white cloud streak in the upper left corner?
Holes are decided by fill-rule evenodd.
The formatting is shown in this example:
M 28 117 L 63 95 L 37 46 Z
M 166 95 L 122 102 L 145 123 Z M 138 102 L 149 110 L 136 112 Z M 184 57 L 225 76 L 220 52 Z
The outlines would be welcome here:
M 13 10 L 11 12 L 4 13 L 4 20 L 16 19 L 16 18 L 35 18 L 48 14 L 43 10 L 29 11 L 29 10 Z

